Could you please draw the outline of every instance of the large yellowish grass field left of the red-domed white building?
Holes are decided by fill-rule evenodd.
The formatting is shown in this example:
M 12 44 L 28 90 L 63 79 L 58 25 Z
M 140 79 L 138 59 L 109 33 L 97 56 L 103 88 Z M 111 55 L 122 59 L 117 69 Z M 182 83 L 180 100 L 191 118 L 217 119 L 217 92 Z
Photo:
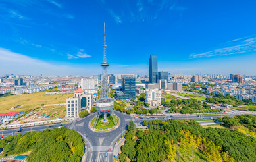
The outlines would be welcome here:
M 66 103 L 66 99 L 71 96 L 73 96 L 73 94 L 46 95 L 45 92 L 37 92 L 33 94 L 0 97 L 0 113 L 7 113 L 9 111 L 27 111 L 36 109 L 40 107 L 41 104 L 49 105 Z M 16 105 L 22 105 L 22 107 L 11 109 L 11 107 L 15 107 Z

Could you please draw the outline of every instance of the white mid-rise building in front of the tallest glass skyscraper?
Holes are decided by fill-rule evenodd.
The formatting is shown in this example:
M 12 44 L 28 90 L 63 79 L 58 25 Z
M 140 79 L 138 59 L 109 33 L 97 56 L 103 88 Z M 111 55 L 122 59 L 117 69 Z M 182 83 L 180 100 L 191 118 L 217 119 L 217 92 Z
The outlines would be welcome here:
M 146 89 L 145 103 L 148 103 L 152 107 L 157 107 L 161 105 L 161 90 Z

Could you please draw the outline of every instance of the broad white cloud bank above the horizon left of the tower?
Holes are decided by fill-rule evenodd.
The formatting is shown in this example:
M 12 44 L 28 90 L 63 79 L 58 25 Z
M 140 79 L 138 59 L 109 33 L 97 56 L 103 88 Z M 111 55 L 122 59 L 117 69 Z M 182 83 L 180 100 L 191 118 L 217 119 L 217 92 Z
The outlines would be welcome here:
M 67 63 L 66 63 L 67 64 Z M 34 59 L 32 57 L 14 53 L 9 49 L 0 48 L 0 75 L 4 74 L 31 74 L 31 75 L 91 75 L 99 74 L 100 67 L 73 67 L 69 65 L 54 65 Z M 82 73 L 81 73 L 82 72 Z

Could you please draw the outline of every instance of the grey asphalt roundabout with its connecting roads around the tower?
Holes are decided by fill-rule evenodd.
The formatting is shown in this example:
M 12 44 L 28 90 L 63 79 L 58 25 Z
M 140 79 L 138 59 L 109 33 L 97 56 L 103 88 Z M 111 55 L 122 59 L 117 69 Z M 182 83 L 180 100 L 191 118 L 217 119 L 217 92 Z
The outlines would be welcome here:
M 82 136 L 86 137 L 86 162 L 113 162 L 113 146 L 117 142 L 118 138 L 122 136 L 122 133 L 127 130 L 128 124 L 131 119 L 134 120 L 137 126 L 141 126 L 143 120 L 155 120 L 155 119 L 161 119 L 163 121 L 168 119 L 176 119 L 176 120 L 190 120 L 194 119 L 195 121 L 207 121 L 211 119 L 216 119 L 217 117 L 224 117 L 229 116 L 233 117 L 235 115 L 238 115 L 237 113 L 226 113 L 226 114 L 211 114 L 211 115 L 204 115 L 203 117 L 197 117 L 197 115 L 186 115 L 186 116 L 173 116 L 173 115 L 165 115 L 163 117 L 150 117 L 149 119 L 146 119 L 143 117 L 143 119 L 135 119 L 134 117 L 131 117 L 130 115 L 126 115 L 124 113 L 120 113 L 118 111 L 115 111 L 116 115 L 120 119 L 120 126 L 116 128 L 115 130 L 111 130 L 109 132 L 93 132 L 89 128 L 89 121 L 93 119 L 95 116 L 95 113 L 89 115 L 88 117 L 85 117 L 83 119 L 76 119 L 72 123 L 66 123 L 63 124 L 63 126 L 67 128 L 74 129 Z M 33 126 L 29 128 L 23 128 L 22 132 L 17 132 L 18 129 L 13 130 L 1 130 L 0 135 L 3 134 L 3 138 L 6 138 L 7 136 L 16 135 L 18 133 L 25 134 L 26 132 L 38 132 L 45 129 L 53 129 L 58 128 L 60 124 L 51 124 L 46 126 Z M 107 156 L 106 156 L 107 152 Z

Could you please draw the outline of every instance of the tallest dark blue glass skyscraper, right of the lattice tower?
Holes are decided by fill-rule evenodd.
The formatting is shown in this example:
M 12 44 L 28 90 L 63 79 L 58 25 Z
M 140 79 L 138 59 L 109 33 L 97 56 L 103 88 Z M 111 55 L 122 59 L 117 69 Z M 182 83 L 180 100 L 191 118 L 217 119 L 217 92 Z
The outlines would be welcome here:
M 150 55 L 149 58 L 149 83 L 157 83 L 157 55 Z

